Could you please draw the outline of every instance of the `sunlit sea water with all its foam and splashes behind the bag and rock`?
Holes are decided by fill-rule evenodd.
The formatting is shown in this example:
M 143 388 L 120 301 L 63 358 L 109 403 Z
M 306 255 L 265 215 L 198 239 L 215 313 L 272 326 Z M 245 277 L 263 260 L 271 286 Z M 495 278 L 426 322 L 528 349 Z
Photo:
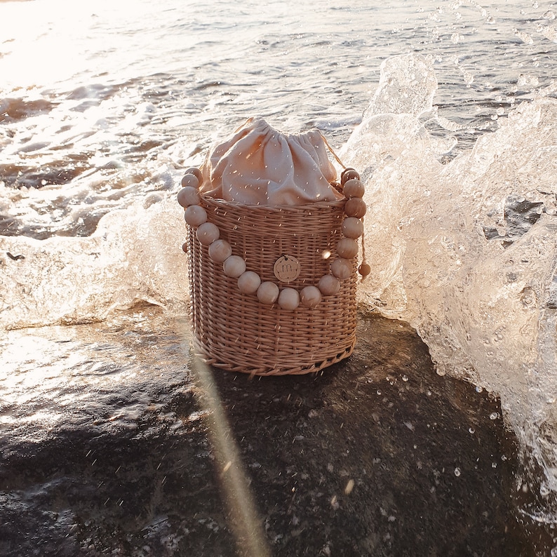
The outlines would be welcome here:
M 175 193 L 250 116 L 366 182 L 360 300 L 501 396 L 557 521 L 557 8 L 0 2 L 0 326 L 184 311 Z M 9 358 L 9 354 L 3 356 Z

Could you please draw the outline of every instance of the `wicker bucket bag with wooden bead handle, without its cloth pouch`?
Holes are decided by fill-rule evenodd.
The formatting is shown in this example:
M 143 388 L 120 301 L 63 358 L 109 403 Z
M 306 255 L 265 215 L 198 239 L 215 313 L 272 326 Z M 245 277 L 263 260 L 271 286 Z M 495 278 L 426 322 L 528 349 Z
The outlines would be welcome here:
M 341 182 L 329 201 L 258 205 L 220 199 L 222 189 L 215 198 L 206 167 L 186 171 L 178 201 L 196 356 L 224 370 L 286 375 L 351 354 L 365 204 L 363 186 L 356 196 L 341 193 L 361 184 L 354 170 Z

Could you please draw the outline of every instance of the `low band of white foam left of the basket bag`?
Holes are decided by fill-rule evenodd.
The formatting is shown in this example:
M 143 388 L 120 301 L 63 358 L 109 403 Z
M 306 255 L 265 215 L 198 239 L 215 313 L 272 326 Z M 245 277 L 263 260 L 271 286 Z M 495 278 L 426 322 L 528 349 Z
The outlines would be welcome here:
M 96 321 L 137 302 L 183 312 L 180 238 L 173 195 L 112 211 L 87 238 L 0 236 L 0 326 Z

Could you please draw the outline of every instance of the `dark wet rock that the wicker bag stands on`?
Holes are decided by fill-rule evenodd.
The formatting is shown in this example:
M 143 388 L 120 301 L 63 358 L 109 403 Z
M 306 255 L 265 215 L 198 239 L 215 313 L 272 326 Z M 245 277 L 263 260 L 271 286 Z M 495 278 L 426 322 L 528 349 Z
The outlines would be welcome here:
M 436 375 L 405 323 L 362 314 L 348 361 L 261 379 L 193 365 L 184 330 L 146 310 L 25 332 L 30 391 L 0 382 L 0 555 L 546 554 L 498 401 Z

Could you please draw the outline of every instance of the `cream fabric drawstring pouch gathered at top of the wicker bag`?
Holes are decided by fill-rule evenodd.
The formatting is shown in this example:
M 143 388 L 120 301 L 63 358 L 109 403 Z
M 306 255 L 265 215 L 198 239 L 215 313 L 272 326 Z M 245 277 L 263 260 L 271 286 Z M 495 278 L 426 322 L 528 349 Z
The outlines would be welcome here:
M 304 205 L 342 197 L 318 130 L 286 135 L 250 118 L 213 147 L 203 164 L 201 192 L 245 205 Z

